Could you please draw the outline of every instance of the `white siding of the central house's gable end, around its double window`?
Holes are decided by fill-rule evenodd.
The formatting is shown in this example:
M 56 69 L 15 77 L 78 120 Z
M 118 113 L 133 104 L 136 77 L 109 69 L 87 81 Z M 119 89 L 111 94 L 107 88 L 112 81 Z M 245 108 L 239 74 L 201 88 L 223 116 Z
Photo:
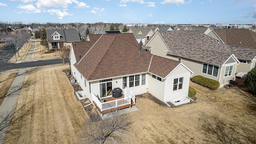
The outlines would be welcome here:
M 174 78 L 181 78 L 183 77 L 183 86 L 180 90 L 173 91 L 173 82 Z M 184 101 L 185 98 L 188 96 L 188 87 L 190 81 L 190 73 L 182 74 L 179 76 L 169 76 L 166 78 L 165 84 L 165 101 L 175 102 L 175 101 Z

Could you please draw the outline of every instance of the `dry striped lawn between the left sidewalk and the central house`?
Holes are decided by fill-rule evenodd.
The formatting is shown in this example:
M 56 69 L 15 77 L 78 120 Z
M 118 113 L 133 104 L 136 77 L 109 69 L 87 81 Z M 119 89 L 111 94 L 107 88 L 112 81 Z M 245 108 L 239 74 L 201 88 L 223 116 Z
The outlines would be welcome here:
M 67 68 L 27 72 L 4 143 L 74 143 L 88 115 L 62 72 Z

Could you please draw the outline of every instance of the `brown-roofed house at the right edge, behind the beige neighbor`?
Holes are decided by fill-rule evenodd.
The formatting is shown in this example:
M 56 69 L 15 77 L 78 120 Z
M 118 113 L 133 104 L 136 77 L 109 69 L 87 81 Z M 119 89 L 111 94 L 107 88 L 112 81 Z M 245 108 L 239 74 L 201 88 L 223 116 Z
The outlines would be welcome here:
M 240 64 L 236 73 L 248 72 L 255 67 L 256 33 L 246 29 L 216 29 L 208 36 L 219 39 L 231 46 L 232 53 L 238 58 Z

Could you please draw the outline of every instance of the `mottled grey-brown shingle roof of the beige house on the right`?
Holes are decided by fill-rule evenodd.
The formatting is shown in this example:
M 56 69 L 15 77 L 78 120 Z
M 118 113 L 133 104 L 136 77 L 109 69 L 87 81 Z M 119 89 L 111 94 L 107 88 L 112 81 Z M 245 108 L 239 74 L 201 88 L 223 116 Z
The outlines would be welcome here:
M 159 33 L 171 50 L 168 54 L 219 66 L 232 55 L 229 46 L 202 32 L 181 30 Z

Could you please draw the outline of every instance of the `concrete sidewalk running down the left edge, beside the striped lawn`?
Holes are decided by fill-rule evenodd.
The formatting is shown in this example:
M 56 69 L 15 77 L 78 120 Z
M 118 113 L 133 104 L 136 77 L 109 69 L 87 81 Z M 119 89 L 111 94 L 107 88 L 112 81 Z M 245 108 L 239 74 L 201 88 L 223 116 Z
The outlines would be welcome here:
M 0 105 L 0 144 L 3 143 L 27 69 L 20 69 Z

